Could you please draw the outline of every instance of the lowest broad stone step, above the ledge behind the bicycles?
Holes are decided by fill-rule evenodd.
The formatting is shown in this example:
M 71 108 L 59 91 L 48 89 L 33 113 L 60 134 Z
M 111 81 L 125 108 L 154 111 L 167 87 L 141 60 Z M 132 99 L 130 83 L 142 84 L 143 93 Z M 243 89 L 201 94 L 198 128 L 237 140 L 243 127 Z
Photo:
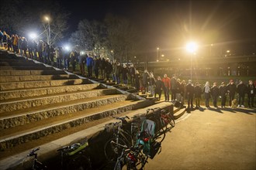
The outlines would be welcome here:
M 22 127 L 2 130 L 0 136 L 0 150 L 11 148 L 15 145 L 32 141 L 38 138 L 61 132 L 64 129 L 86 124 L 88 121 L 109 117 L 129 110 L 144 106 L 145 101 L 119 101 L 109 105 L 100 106 L 88 110 L 78 111 L 74 114 L 67 114 L 62 117 L 52 117 L 47 121 L 36 121 L 33 124 L 26 124 Z

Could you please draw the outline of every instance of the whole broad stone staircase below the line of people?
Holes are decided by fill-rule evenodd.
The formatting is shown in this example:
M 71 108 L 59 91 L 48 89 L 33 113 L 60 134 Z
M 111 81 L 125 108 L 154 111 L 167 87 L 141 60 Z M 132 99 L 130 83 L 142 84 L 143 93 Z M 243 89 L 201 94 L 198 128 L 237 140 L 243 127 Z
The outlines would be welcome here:
M 150 104 L 115 87 L 0 50 L 0 151 Z

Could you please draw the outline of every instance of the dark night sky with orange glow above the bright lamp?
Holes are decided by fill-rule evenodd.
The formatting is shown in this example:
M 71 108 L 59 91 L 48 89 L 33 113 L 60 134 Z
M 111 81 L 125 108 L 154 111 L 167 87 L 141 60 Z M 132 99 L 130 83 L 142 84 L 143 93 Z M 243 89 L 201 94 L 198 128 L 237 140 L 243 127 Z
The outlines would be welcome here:
M 203 45 L 255 42 L 256 1 L 60 1 L 71 12 L 68 32 L 81 19 L 102 20 L 106 13 L 130 19 L 150 48 L 175 49 L 189 39 Z M 227 47 L 228 48 L 228 47 Z

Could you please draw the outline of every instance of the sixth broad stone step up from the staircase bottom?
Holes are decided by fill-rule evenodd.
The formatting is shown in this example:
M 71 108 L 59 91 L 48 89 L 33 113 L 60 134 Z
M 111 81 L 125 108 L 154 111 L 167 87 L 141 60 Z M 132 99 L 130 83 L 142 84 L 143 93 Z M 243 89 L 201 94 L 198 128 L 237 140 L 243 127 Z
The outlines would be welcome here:
M 67 80 L 67 79 L 78 79 L 78 76 L 74 74 L 0 76 L 0 83 L 19 82 L 19 81 L 36 81 L 36 80 Z

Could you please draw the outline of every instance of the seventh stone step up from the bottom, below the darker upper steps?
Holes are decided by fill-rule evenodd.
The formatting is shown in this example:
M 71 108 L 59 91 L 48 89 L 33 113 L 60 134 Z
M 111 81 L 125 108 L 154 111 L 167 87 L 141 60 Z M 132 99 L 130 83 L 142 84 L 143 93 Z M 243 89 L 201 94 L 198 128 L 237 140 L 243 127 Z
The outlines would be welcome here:
M 60 75 L 64 70 L 0 70 L 0 76 Z

